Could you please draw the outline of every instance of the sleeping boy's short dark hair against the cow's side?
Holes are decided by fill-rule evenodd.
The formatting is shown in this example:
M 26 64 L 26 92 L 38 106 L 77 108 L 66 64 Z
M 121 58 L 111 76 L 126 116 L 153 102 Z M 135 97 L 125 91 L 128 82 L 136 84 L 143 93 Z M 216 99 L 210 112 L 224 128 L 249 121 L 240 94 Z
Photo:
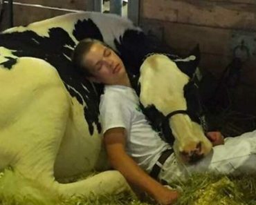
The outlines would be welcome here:
M 91 72 L 89 72 L 89 68 L 86 65 L 84 65 L 83 59 L 84 56 L 90 51 L 91 46 L 93 46 L 93 44 L 95 43 L 100 43 L 106 46 L 105 43 L 97 39 L 83 39 L 77 44 L 77 46 L 75 46 L 75 49 L 71 57 L 74 67 L 79 72 L 81 72 L 82 75 L 84 75 L 85 77 L 93 76 Z

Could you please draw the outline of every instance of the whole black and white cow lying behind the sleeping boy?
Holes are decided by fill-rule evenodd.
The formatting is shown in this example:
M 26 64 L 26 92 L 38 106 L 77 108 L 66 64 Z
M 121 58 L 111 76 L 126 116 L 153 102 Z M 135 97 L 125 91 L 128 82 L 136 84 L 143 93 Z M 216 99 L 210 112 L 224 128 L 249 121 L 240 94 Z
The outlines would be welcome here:
M 0 170 L 11 166 L 61 195 L 130 190 L 120 173 L 107 170 L 98 118 L 102 87 L 86 81 L 71 64 L 73 48 L 87 37 L 106 42 L 130 61 L 133 69 L 128 71 L 140 84 L 135 87 L 145 109 L 154 106 L 162 115 L 187 110 L 183 88 L 190 77 L 181 70 L 182 63 L 191 59 L 167 61 L 163 55 L 153 55 L 142 64 L 138 79 L 136 66 L 154 50 L 140 28 L 127 19 L 82 12 L 1 33 Z M 131 52 L 134 45 L 138 49 Z M 190 58 L 193 62 L 195 57 Z M 201 126 L 188 115 L 175 115 L 169 121 L 179 153 L 209 152 L 210 142 Z M 80 182 L 60 183 L 91 170 L 107 171 Z

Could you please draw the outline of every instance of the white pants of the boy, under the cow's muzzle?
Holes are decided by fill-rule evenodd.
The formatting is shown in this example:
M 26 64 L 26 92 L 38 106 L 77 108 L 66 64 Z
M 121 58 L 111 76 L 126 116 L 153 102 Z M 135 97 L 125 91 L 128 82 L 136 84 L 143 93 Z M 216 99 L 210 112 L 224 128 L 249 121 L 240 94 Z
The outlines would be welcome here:
M 256 173 L 256 130 L 237 137 L 227 137 L 225 144 L 214 146 L 212 152 L 193 165 L 184 165 L 174 154 L 167 158 L 159 179 L 168 183 L 186 179 L 191 173 L 240 174 Z

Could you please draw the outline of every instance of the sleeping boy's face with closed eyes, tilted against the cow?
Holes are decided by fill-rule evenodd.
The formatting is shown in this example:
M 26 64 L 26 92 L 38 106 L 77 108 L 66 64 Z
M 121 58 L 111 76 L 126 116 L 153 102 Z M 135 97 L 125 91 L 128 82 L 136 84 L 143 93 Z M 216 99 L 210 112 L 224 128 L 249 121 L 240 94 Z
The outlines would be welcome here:
M 84 62 L 93 77 L 92 81 L 116 85 L 122 84 L 127 77 L 125 66 L 116 52 L 103 46 L 101 43 L 94 43 L 89 52 L 84 56 Z

